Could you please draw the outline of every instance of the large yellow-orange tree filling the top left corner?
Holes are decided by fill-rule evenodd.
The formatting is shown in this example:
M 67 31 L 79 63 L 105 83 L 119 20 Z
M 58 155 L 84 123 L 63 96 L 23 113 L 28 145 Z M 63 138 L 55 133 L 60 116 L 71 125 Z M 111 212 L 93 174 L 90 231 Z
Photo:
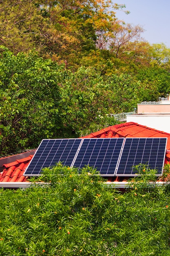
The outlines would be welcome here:
M 15 54 L 35 48 L 54 60 L 79 63 L 82 55 L 96 49 L 97 31 L 109 29 L 113 10 L 123 7 L 110 0 L 4 0 L 0 43 Z

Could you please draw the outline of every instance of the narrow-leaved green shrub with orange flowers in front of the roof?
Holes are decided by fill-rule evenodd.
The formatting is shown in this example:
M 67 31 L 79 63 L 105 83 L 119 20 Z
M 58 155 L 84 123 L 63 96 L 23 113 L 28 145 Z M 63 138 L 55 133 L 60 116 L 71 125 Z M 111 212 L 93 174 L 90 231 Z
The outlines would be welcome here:
M 169 185 L 145 171 L 124 193 L 89 167 L 77 175 L 61 164 L 28 189 L 1 189 L 0 254 L 170 255 Z

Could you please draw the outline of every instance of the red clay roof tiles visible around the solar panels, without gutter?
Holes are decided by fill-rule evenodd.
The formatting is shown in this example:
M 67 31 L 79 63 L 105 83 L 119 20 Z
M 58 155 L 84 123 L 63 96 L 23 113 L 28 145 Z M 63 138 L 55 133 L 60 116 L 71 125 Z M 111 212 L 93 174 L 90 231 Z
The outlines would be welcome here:
M 167 137 L 167 150 L 170 150 L 170 134 L 167 132 L 155 130 L 147 126 L 129 122 L 124 124 L 117 124 L 109 126 L 97 132 L 93 132 L 88 136 L 82 138 L 118 138 L 118 137 Z M 0 182 L 26 182 L 28 177 L 24 177 L 23 173 L 31 161 L 33 155 L 17 159 L 14 162 L 3 164 L 4 170 L 0 173 Z M 165 163 L 170 163 L 170 152 L 166 153 Z M 123 177 L 122 179 L 124 179 Z M 117 177 L 117 180 L 121 177 Z M 109 178 L 108 178 L 109 180 Z M 110 178 L 110 181 L 112 177 Z

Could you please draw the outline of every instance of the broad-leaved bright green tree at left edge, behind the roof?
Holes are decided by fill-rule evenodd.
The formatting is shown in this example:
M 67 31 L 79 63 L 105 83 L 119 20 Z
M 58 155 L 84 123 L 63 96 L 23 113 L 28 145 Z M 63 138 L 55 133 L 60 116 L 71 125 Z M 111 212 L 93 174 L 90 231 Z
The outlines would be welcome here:
M 36 52 L 0 57 L 1 152 L 33 148 L 42 138 L 57 136 L 62 65 L 38 58 Z

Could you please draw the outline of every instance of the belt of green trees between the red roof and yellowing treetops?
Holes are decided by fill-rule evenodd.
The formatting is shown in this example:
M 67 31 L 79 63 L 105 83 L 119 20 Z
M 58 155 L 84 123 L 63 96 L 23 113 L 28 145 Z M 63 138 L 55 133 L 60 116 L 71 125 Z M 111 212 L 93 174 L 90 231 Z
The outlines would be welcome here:
M 167 82 L 170 74 L 161 67 L 136 75 L 102 75 L 83 66 L 73 72 L 34 50 L 14 55 L 1 46 L 0 151 L 35 148 L 45 138 L 76 137 L 114 125 L 110 113 L 157 100 L 168 92 Z

